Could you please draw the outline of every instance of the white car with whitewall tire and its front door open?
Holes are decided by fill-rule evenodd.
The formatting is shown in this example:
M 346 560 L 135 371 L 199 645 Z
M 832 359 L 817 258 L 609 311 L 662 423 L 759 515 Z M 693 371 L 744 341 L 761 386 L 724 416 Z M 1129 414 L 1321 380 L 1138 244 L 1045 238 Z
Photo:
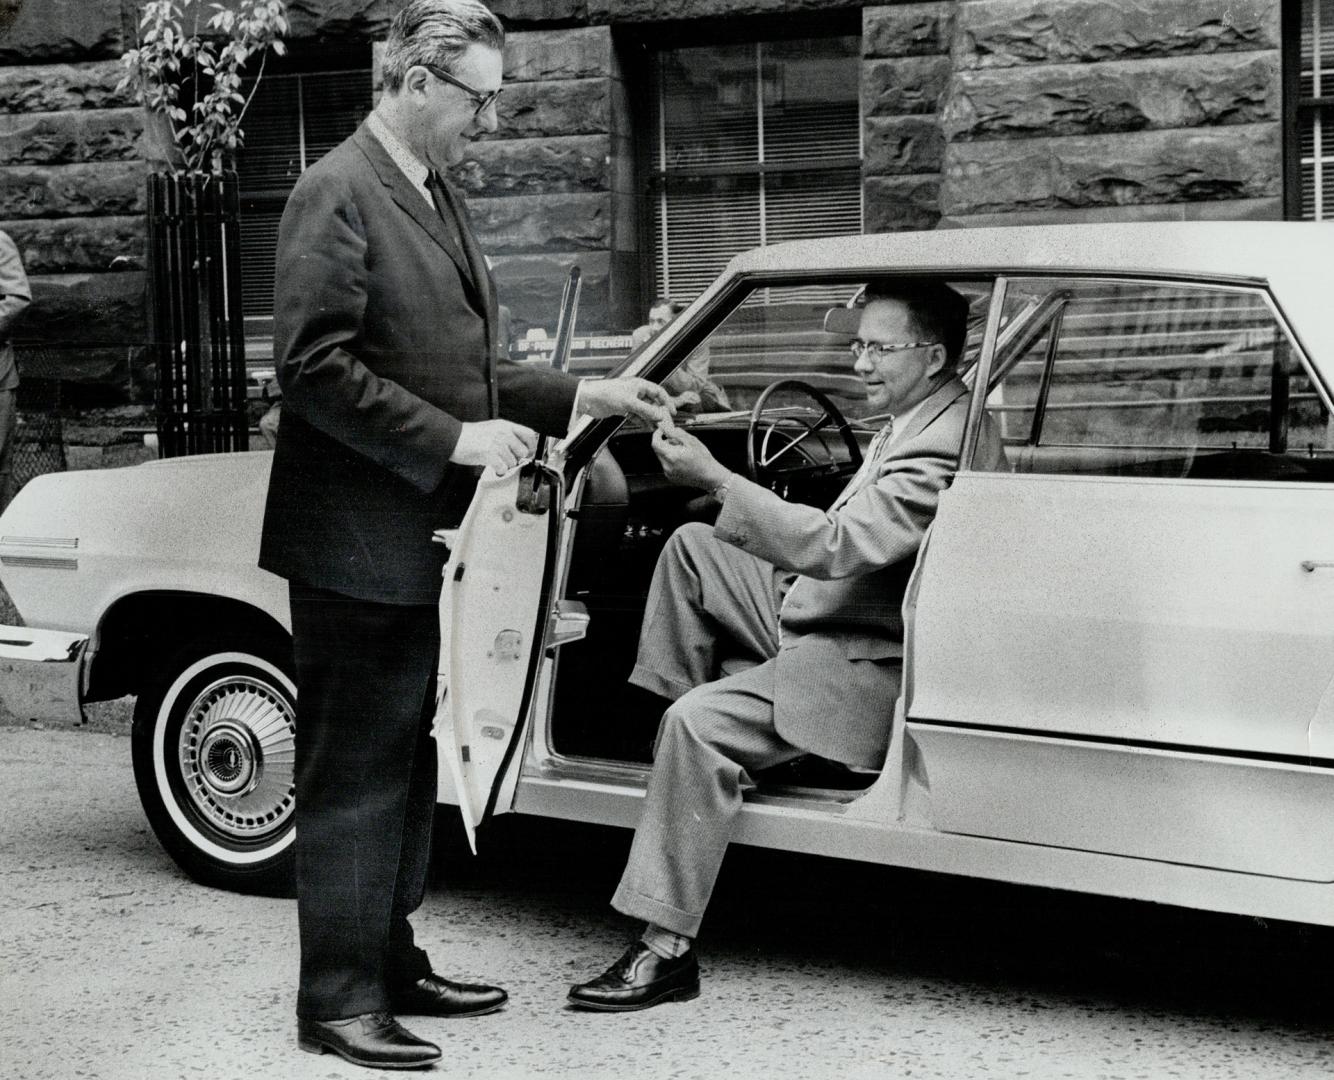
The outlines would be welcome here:
M 888 757 L 762 775 L 738 839 L 1334 925 L 1331 252 L 1334 227 L 1277 223 L 800 241 L 734 260 L 630 357 L 655 380 L 688 357 L 735 409 L 687 421 L 715 455 L 820 501 L 882 419 L 859 415 L 843 308 L 886 275 L 974 305 L 971 427 L 904 600 Z M 983 413 L 999 471 L 971 464 Z M 27 623 L 0 629 L 9 708 L 137 693 L 157 836 L 253 889 L 284 887 L 292 849 L 268 461 L 44 476 L 0 519 Z M 711 511 L 610 420 L 482 484 L 442 593 L 440 797 L 470 827 L 635 824 L 648 575 Z

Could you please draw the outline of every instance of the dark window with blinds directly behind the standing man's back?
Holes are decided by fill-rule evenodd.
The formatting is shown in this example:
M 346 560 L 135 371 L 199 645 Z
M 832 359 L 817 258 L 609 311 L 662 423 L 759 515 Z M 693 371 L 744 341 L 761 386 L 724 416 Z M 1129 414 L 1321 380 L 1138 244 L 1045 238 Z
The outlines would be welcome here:
M 364 68 L 265 75 L 260 80 L 245 113 L 245 144 L 236 155 L 247 321 L 273 315 L 277 223 L 296 177 L 356 131 L 370 111 L 370 51 Z

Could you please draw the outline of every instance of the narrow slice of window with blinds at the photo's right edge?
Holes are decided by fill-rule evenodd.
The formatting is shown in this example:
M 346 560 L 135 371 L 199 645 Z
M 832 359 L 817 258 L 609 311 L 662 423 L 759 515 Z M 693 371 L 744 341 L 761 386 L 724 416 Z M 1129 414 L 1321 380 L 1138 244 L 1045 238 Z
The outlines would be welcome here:
M 1297 91 L 1301 216 L 1334 220 L 1334 0 L 1302 0 Z

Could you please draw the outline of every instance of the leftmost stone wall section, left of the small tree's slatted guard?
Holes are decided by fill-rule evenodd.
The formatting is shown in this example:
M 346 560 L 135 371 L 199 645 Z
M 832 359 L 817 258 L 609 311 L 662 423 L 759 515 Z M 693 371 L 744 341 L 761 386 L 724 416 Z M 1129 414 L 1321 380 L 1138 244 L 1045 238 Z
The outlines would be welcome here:
M 27 3 L 0 37 L 0 228 L 33 288 L 23 375 L 133 401 L 152 387 L 143 124 L 116 92 L 124 15 L 121 0 Z

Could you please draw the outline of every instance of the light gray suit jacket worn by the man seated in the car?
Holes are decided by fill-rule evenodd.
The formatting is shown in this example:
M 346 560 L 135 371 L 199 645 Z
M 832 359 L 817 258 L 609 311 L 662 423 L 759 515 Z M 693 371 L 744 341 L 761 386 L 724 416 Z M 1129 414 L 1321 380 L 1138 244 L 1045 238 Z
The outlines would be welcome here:
M 968 389 L 935 389 L 855 493 L 831 511 L 787 503 L 748 480 L 727 489 L 715 535 L 798 573 L 779 617 L 774 725 L 806 751 L 878 767 L 903 656 L 903 591 L 940 492 L 959 467 Z M 980 468 L 1000 461 L 987 423 Z

